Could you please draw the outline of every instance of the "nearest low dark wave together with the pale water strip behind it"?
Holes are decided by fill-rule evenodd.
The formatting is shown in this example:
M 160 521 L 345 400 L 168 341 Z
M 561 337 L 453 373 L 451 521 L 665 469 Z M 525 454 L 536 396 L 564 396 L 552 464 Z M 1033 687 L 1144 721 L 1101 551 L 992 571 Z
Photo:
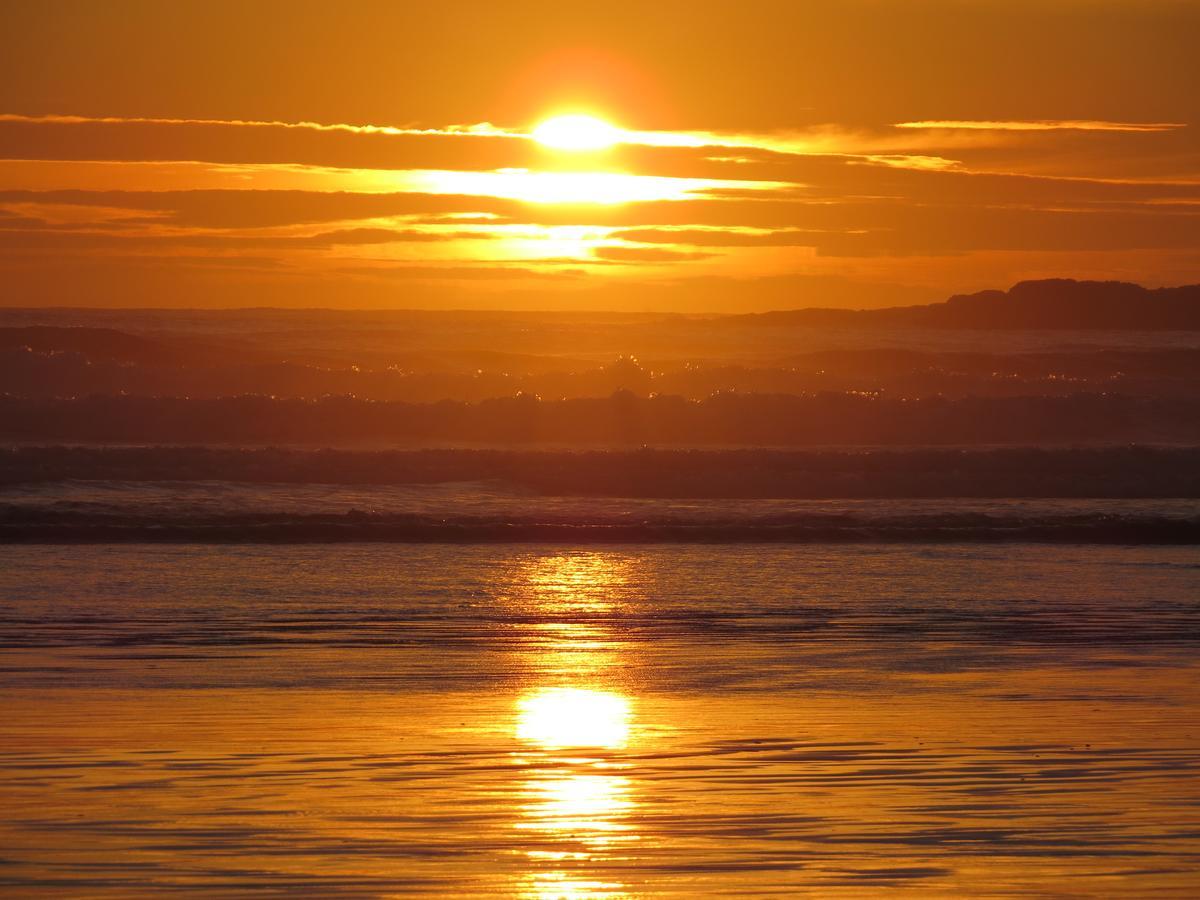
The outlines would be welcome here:
M 0 542 L 1200 544 L 1194 498 L 748 499 L 401 485 L 64 480 L 0 485 Z

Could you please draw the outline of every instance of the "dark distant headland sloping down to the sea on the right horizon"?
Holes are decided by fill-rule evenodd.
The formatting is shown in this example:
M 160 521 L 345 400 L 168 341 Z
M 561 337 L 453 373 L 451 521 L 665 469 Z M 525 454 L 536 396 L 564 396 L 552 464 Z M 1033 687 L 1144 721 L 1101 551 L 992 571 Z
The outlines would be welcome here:
M 788 310 L 739 317 L 762 324 L 950 329 L 1200 331 L 1200 284 L 1144 288 L 1122 281 L 1048 278 L 942 304 L 883 310 Z

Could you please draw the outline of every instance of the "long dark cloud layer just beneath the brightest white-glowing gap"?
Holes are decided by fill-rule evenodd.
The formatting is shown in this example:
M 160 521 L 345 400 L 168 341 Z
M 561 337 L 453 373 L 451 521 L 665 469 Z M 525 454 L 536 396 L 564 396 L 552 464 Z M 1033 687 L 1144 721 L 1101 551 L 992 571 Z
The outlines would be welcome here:
M 895 174 L 895 173 L 893 173 Z M 835 256 L 878 256 L 890 253 L 960 253 L 974 250 L 1134 250 L 1183 248 L 1200 245 L 1200 215 L 1194 204 L 1147 203 L 1145 185 L 1096 185 L 1069 182 L 1046 185 L 1040 179 L 1008 176 L 953 176 L 942 173 L 901 173 L 906 180 L 929 179 L 923 185 L 905 184 L 907 191 L 894 197 L 812 197 L 805 191 L 768 193 L 762 199 L 724 197 L 720 199 L 661 200 L 619 205 L 523 204 L 515 200 L 455 194 L 349 194 L 292 191 L 197 191 L 197 192 L 0 192 L 7 204 L 35 217 L 40 204 L 112 210 L 126 208 L 145 212 L 142 220 L 126 218 L 146 228 L 174 229 L 163 242 L 203 245 L 178 229 L 236 229 L 247 246 L 256 241 L 245 232 L 269 227 L 304 227 L 319 223 L 343 226 L 325 236 L 300 238 L 263 235 L 259 246 L 312 246 L 332 242 L 362 242 L 408 239 L 434 241 L 425 229 L 380 227 L 379 218 L 487 212 L 497 230 L 487 226 L 470 230 L 450 228 L 440 240 L 472 239 L 487 234 L 509 236 L 504 228 L 526 226 L 581 226 L 622 229 L 676 229 L 662 234 L 641 234 L 654 244 L 737 247 L 816 247 Z M 978 190 L 972 185 L 978 184 Z M 920 190 L 917 190 L 917 188 Z M 1039 196 L 1048 187 L 1068 190 L 1072 198 Z M 1200 185 L 1192 186 L 1200 196 Z M 1007 188 L 1008 197 L 1004 197 Z M 1154 188 L 1164 192 L 1162 186 Z M 1170 193 L 1171 191 L 1165 191 Z M 1129 199 L 1132 198 L 1132 199 Z M 1007 203 L 1006 203 L 1007 199 Z M 1164 197 L 1163 199 L 1169 199 Z M 1177 198 L 1176 198 L 1177 199 Z M 358 229 L 379 229 L 365 230 Z M 682 229 L 682 234 L 680 230 Z M 704 229 L 709 229 L 706 233 Z M 710 229 L 718 229 L 712 233 Z M 721 233 L 720 229 L 725 229 Z M 740 232 L 739 232 L 740 229 Z M 754 229 L 754 230 L 750 230 Z M 97 229 L 106 230 L 106 229 Z M 337 232 L 349 232 L 337 235 Z M 772 233 L 766 235 L 766 233 Z M 335 236 L 329 236 L 334 234 Z M 746 235 L 746 236 L 740 236 Z M 521 235 L 532 240 L 538 233 Z M 545 235 L 554 240 L 553 235 Z M 169 239 L 169 240 L 168 240 Z M 13 239 L 16 240 L 16 239 Z M 32 240 L 32 239 L 30 239 Z M 53 240 L 67 244 L 96 238 Z M 226 238 L 214 239 L 220 244 Z M 103 241 L 119 241 L 109 234 Z M 652 262 L 647 253 L 617 251 L 606 258 L 614 262 Z M 642 248 L 648 250 L 648 248 Z M 528 248 L 522 251 L 528 253 Z M 601 254 L 601 258 L 602 257 Z M 679 257 L 674 257 L 679 259 Z M 695 258 L 695 257 L 691 257 Z M 670 262 L 660 257 L 654 262 Z

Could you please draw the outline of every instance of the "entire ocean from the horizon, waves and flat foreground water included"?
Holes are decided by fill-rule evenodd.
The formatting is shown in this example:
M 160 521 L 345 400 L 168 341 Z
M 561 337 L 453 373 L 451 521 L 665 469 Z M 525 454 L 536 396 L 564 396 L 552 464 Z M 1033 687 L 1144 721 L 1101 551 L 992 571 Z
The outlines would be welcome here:
M 1200 334 L 0 332 L 0 894 L 1200 893 Z

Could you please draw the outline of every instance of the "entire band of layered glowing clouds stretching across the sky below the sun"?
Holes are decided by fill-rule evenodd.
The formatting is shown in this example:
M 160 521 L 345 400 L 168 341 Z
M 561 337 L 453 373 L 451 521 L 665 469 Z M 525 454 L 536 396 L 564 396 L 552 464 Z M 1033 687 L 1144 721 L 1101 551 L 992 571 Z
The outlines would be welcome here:
M 766 292 L 754 276 L 767 264 L 823 272 L 841 265 L 881 281 L 904 271 L 923 282 L 937 272 L 961 278 L 980 254 L 1039 254 L 1038 274 L 1070 275 L 1044 260 L 1200 246 L 1200 156 L 1192 132 L 1171 122 L 928 120 L 767 137 L 678 134 L 638 132 L 641 143 L 581 162 L 494 126 L 0 116 L 0 156 L 49 157 L 0 162 L 10 187 L 36 188 L 0 191 L 0 262 L 29 274 L 89 257 L 180 259 L 197 271 L 199 292 L 216 277 L 202 277 L 204 266 L 234 270 L 232 260 L 253 256 L 271 259 L 293 286 L 318 280 L 305 295 L 336 290 L 322 280 L 352 263 L 361 269 L 338 271 L 403 283 L 397 302 L 415 302 L 408 284 L 479 281 L 484 290 L 494 281 L 517 289 L 522 278 L 578 278 L 581 269 L 605 265 L 625 272 L 614 283 L 644 277 L 662 288 L 677 278 L 668 264 L 714 256 L 722 272 L 744 272 Z M 1085 169 L 1078 160 L 1091 162 Z M 596 172 L 570 168 L 588 164 Z M 614 172 L 629 182 L 598 176 Z M 532 191 L 534 182 L 545 190 Z M 637 190 L 614 196 L 616 185 Z M 558 226 L 568 228 L 554 233 Z M 488 239 L 485 250 L 479 241 Z M 556 240 L 563 246 L 539 244 Z M 404 265 L 361 259 L 372 256 L 362 248 L 388 244 L 410 246 L 373 256 L 395 253 Z M 485 254 L 503 259 L 473 264 Z M 142 272 L 149 263 L 125 265 Z M 104 277 L 115 286 L 119 266 Z M 131 283 L 151 282 L 131 274 Z M 733 302 L 733 294 L 720 295 Z

